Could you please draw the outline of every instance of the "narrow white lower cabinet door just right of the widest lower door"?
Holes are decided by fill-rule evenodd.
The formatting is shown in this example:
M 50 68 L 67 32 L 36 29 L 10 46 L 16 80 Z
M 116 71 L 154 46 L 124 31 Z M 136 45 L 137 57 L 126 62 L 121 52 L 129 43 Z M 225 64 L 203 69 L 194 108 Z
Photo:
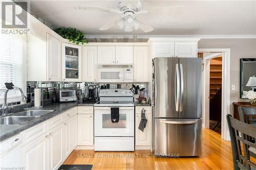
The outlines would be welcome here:
M 63 124 L 49 131 L 48 169 L 58 169 L 63 161 Z

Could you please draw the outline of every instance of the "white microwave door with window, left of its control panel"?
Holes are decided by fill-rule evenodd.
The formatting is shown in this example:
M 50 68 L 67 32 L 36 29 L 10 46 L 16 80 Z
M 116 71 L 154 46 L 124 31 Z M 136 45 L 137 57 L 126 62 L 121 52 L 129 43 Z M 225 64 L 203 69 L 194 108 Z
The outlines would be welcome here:
M 98 68 L 98 82 L 123 82 L 123 68 Z

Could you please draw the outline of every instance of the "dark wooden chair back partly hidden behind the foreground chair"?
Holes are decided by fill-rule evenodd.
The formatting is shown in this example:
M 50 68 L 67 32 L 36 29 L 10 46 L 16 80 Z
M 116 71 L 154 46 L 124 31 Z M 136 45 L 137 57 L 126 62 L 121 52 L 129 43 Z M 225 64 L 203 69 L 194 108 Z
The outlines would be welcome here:
M 254 116 L 256 115 L 256 108 L 239 106 L 238 112 L 239 118 L 242 122 L 256 125 L 256 119 L 254 118 Z

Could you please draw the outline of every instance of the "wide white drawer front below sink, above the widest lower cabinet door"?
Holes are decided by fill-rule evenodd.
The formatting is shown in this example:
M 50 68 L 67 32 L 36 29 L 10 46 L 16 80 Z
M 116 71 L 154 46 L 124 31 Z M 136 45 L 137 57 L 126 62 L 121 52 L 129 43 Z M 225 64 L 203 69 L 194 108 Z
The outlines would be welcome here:
M 32 128 L 29 128 L 28 130 L 22 132 L 22 137 L 24 140 L 23 145 L 29 143 L 30 141 L 38 138 L 42 134 L 45 134 L 48 131 L 47 124 L 48 122 L 40 123 L 39 125 L 36 125 Z

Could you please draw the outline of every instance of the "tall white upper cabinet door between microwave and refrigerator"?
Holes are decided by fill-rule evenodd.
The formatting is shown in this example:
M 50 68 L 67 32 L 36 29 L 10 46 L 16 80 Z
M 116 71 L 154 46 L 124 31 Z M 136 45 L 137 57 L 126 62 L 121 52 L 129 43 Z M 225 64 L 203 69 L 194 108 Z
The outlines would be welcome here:
M 134 47 L 134 82 L 148 82 L 148 47 Z

